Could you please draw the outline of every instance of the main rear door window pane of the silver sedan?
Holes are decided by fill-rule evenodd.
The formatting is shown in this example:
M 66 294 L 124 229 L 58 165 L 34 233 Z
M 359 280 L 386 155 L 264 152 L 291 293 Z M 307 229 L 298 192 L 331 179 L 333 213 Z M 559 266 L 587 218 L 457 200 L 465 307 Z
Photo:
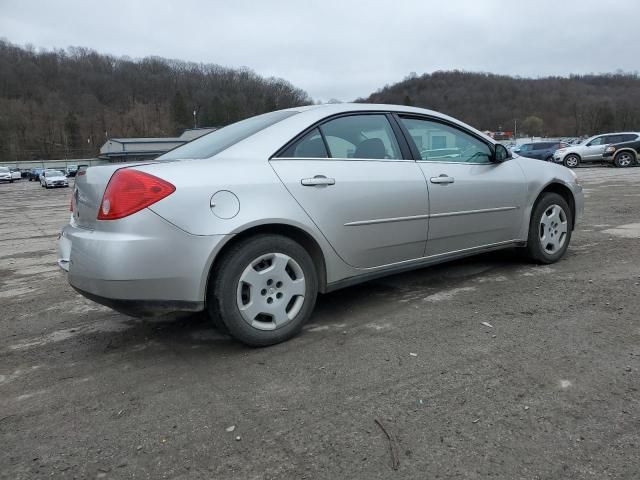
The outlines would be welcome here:
M 331 158 L 402 159 L 384 115 L 349 115 L 320 126 Z

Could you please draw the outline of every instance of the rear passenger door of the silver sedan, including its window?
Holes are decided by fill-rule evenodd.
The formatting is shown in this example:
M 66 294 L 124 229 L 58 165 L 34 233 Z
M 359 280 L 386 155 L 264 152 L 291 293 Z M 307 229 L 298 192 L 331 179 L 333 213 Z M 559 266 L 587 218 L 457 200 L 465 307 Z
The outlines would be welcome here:
M 424 254 L 427 186 L 403 141 L 387 114 L 350 114 L 326 120 L 271 159 L 291 195 L 354 267 Z

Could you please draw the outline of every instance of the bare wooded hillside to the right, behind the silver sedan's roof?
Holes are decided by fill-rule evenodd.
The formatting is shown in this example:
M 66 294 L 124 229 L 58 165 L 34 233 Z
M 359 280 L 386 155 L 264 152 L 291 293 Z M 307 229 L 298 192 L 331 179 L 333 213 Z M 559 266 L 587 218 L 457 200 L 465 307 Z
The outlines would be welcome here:
M 437 110 L 481 130 L 579 136 L 640 130 L 640 77 L 514 78 L 461 71 L 411 75 L 366 99 Z

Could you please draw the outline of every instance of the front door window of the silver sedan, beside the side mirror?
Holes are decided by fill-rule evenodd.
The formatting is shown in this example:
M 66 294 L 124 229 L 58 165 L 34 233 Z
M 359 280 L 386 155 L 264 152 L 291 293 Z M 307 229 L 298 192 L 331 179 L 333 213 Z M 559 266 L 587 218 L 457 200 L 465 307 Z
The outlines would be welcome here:
M 490 161 L 489 145 L 462 130 L 431 120 L 401 118 L 401 121 L 409 131 L 422 160 L 460 163 Z M 531 144 L 523 145 L 520 152 L 529 150 Z

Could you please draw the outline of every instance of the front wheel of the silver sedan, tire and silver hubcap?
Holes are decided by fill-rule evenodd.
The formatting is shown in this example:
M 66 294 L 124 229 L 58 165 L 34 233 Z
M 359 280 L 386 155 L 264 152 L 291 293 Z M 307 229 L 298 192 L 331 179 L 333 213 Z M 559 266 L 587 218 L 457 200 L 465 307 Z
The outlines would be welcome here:
M 573 212 L 557 193 L 545 192 L 531 213 L 526 254 L 535 263 L 549 264 L 560 260 L 571 241 Z

